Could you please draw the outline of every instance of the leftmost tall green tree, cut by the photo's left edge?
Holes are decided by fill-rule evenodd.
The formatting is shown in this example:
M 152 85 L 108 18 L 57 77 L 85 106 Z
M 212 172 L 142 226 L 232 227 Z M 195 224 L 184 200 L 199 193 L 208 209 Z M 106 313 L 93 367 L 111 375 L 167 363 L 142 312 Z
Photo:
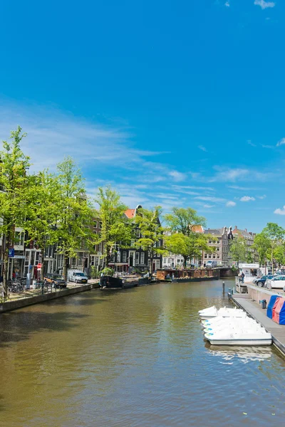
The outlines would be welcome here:
M 26 137 L 21 127 L 11 132 L 11 142 L 3 141 L 0 152 L 0 233 L 4 241 L 4 295 L 8 294 L 9 248 L 15 243 L 15 227 L 24 224 L 28 192 L 30 191 L 27 169 L 30 158 L 20 148 L 21 140 Z

